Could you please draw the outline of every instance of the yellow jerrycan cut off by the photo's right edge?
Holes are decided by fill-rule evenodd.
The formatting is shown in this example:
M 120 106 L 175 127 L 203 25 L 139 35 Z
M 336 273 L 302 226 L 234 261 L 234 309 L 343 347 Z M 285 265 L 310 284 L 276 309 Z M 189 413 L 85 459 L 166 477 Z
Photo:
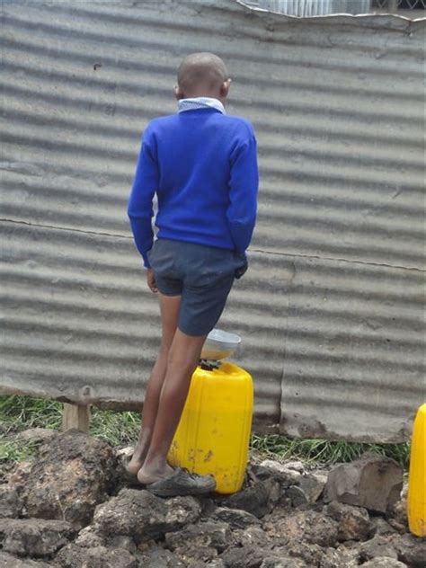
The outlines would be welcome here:
M 411 532 L 426 537 L 426 404 L 422 404 L 414 420 L 407 516 Z

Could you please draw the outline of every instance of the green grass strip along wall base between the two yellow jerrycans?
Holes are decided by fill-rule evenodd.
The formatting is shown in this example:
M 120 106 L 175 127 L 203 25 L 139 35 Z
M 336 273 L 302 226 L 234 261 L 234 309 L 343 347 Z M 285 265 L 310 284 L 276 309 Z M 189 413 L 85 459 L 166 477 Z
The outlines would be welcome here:
M 392 457 L 404 469 L 408 468 L 410 446 L 402 444 L 366 444 L 328 439 L 290 439 L 279 434 L 253 434 L 252 448 L 267 457 L 301 459 L 312 463 L 332 465 L 350 462 L 364 452 Z

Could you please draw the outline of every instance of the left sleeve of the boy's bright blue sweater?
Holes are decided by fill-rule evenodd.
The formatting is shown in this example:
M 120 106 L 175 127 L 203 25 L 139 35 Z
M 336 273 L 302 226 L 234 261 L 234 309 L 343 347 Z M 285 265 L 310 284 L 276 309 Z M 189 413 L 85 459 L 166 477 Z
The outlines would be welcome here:
M 150 268 L 146 253 L 151 250 L 154 239 L 152 229 L 153 199 L 158 188 L 158 180 L 155 138 L 148 127 L 144 133 L 138 155 L 138 164 L 128 204 L 131 230 L 146 268 Z

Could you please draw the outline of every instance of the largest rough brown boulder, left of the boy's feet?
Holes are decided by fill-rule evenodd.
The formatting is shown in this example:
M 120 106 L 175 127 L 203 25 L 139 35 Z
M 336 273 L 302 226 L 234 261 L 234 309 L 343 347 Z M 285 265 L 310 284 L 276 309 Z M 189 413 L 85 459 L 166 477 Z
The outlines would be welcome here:
M 97 503 L 108 496 L 115 459 L 108 444 L 67 430 L 40 448 L 30 467 L 11 476 L 29 517 L 65 519 L 87 525 Z

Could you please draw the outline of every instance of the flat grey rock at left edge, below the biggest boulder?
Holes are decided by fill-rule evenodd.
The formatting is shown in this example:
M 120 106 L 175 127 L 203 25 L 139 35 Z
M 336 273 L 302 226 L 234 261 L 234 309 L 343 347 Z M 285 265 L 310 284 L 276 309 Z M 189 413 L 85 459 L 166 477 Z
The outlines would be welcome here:
M 74 529 L 65 520 L 1 519 L 4 552 L 20 556 L 50 556 L 67 545 Z

